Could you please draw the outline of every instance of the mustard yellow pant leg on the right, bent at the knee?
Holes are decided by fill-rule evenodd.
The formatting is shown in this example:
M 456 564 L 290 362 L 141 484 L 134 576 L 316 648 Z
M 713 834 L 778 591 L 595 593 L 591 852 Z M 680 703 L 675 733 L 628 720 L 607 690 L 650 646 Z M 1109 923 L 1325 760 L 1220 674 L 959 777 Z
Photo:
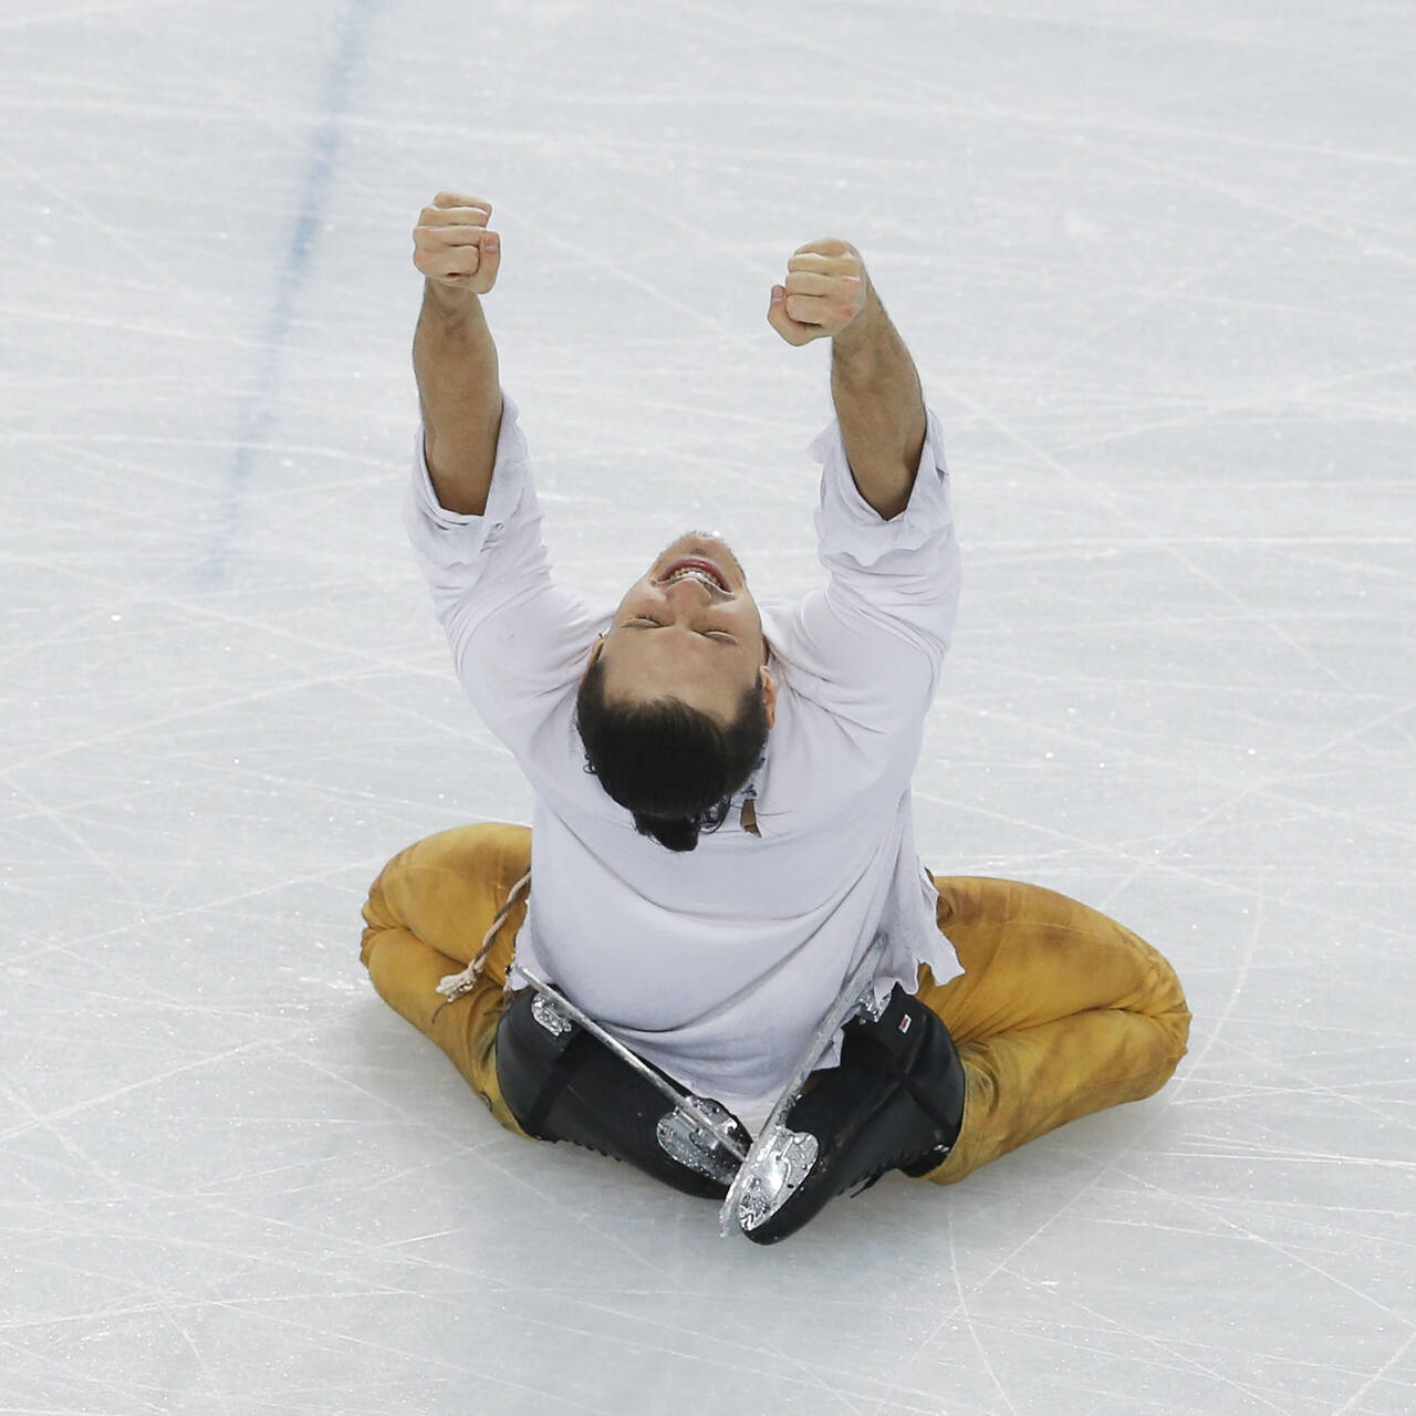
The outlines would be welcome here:
M 1180 980 L 1146 940 L 1078 901 L 1015 881 L 935 879 L 964 967 L 919 997 L 964 1065 L 964 1121 L 929 1180 L 947 1185 L 1092 1112 L 1157 1092 L 1185 1055 Z

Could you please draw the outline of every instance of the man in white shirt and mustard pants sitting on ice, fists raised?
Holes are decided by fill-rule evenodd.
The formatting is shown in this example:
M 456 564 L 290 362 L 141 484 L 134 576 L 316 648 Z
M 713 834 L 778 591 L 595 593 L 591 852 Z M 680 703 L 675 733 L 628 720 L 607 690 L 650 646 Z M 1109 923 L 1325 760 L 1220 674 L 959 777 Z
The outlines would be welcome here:
M 721 1197 L 864 969 L 783 1103 L 801 1144 L 743 1219 L 759 1242 L 886 1170 L 949 1184 L 1157 1090 L 1189 1014 L 1154 949 L 1051 891 L 920 865 L 910 776 L 959 547 L 939 425 L 860 253 L 801 246 L 767 312 L 787 344 L 831 340 L 835 423 L 813 447 L 824 588 L 759 602 L 728 545 L 691 531 L 593 606 L 552 579 L 501 394 L 480 299 L 501 256 L 490 210 L 440 194 L 415 231 L 406 523 L 535 814 L 388 864 L 362 950 L 382 997 L 508 1130 Z

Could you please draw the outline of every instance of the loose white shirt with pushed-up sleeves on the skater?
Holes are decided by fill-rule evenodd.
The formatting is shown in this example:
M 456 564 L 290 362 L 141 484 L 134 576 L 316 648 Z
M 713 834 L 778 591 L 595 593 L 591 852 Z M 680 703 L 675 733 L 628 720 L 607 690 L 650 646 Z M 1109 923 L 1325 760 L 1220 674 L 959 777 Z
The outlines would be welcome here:
M 515 405 L 483 515 L 439 506 L 422 447 L 419 435 L 413 552 L 467 695 L 535 793 L 518 961 L 670 1076 L 748 1113 L 776 1100 L 877 929 L 889 937 L 878 994 L 913 991 L 922 963 L 940 983 L 961 973 L 909 796 L 959 600 L 933 415 L 891 521 L 857 490 L 840 429 L 813 443 L 827 583 L 790 603 L 759 598 L 776 724 L 728 820 L 687 852 L 639 835 L 585 772 L 575 694 L 613 606 L 551 576 Z M 759 835 L 739 820 L 749 792 Z

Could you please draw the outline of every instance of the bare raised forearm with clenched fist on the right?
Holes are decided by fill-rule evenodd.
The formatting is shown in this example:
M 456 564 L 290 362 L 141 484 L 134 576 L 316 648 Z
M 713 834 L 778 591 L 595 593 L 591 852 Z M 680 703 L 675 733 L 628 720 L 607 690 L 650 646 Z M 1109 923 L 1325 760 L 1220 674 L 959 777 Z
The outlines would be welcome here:
M 767 323 L 787 344 L 831 340 L 831 399 L 861 496 L 884 517 L 909 503 L 925 447 L 915 361 L 845 241 L 811 241 L 772 287 Z

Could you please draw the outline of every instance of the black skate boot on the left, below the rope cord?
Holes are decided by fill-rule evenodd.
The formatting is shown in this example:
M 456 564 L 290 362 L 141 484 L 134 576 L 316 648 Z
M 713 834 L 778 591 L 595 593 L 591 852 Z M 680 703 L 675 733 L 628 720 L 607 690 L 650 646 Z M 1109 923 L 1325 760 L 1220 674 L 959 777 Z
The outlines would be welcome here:
M 657 1068 L 641 1058 L 636 1062 L 643 1072 L 535 988 L 518 994 L 497 1025 L 497 1080 L 528 1136 L 572 1141 L 627 1161 L 685 1195 L 722 1199 L 752 1137 L 725 1106 L 688 1096 Z M 736 1154 L 718 1133 L 732 1137 Z

